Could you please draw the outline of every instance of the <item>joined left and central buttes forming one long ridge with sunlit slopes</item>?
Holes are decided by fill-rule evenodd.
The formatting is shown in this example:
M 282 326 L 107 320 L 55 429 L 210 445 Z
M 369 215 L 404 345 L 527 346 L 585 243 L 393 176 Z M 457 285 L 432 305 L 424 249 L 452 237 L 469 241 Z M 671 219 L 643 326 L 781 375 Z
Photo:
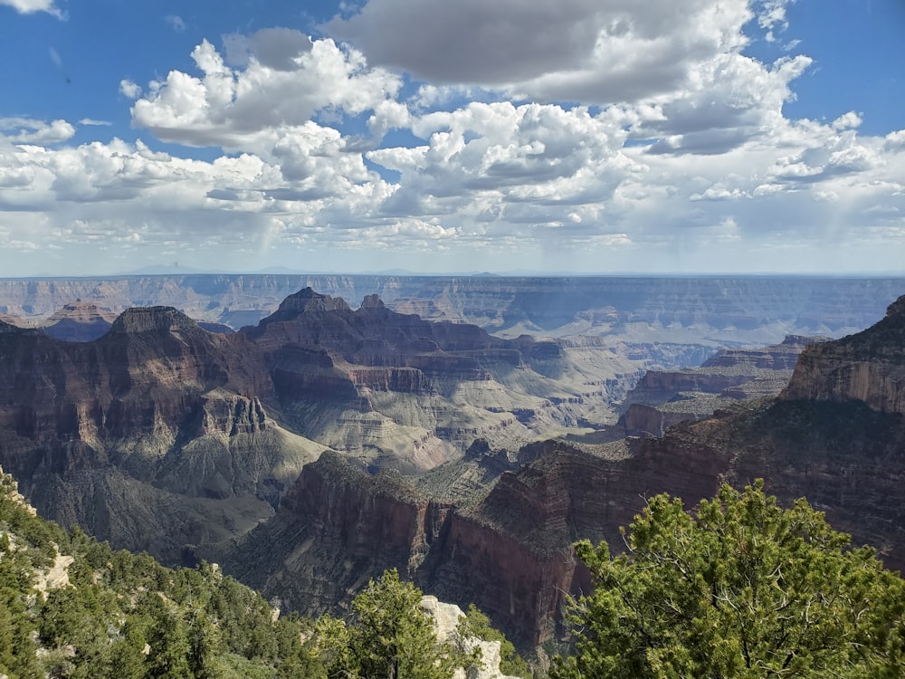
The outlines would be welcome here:
M 518 447 L 610 416 L 605 384 L 637 364 L 596 347 L 579 369 L 567 350 L 310 289 L 233 334 L 171 307 L 82 342 L 2 324 L 0 463 L 44 515 L 173 563 L 270 517 L 325 449 L 421 472 L 478 437 Z

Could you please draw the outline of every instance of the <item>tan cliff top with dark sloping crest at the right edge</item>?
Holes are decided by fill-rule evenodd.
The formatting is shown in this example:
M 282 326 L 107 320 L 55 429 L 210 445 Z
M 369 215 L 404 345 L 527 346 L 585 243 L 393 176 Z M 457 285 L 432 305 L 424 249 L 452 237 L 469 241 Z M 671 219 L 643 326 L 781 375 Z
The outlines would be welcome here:
M 868 330 L 805 350 L 783 397 L 856 399 L 881 412 L 905 413 L 905 297 Z

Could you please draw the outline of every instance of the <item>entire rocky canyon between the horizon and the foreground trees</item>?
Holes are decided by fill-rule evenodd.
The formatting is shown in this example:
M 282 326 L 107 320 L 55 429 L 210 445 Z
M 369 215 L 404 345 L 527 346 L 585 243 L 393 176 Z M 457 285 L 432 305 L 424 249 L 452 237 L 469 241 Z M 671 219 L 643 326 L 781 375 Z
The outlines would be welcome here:
M 523 649 L 656 493 L 762 477 L 905 565 L 905 280 L 196 279 L 0 281 L 43 516 L 310 614 L 396 568 Z

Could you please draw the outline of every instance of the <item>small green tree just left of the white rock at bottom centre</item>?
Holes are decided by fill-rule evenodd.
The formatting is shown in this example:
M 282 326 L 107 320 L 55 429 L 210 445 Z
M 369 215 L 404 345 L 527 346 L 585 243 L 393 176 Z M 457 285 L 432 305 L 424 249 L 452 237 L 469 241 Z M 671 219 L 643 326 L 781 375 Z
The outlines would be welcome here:
M 421 590 L 387 570 L 353 601 L 349 645 L 364 679 L 448 679 L 458 658 L 437 642 Z M 354 676 L 354 674 L 353 674 Z

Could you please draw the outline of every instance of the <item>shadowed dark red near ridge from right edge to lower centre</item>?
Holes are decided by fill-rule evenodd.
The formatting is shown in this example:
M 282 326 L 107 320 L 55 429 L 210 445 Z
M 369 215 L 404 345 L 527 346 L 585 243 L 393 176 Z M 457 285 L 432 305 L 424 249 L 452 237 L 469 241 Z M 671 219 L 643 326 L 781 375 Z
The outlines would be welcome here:
M 870 356 L 879 357 L 871 374 L 894 374 L 905 346 L 902 307 L 893 305 L 887 320 L 854 338 L 811 345 L 793 386 L 803 389 L 814 376 L 817 385 L 827 383 L 825 375 L 848 374 L 846 365 Z M 771 366 L 779 360 L 744 356 Z M 367 579 L 369 569 L 396 567 L 439 598 L 474 602 L 510 638 L 531 647 L 557 637 L 565 596 L 590 586 L 573 540 L 607 540 L 618 551 L 620 527 L 646 498 L 670 493 L 691 508 L 720 483 L 741 487 L 758 477 L 781 503 L 806 497 L 834 528 L 851 532 L 855 544 L 871 544 L 887 566 L 902 568 L 905 424 L 891 407 L 894 394 L 868 403 L 851 391 L 814 398 L 816 387 L 807 387 L 802 398 L 793 386 L 782 398 L 685 422 L 662 438 L 548 441 L 517 455 L 476 445 L 463 461 L 448 463 L 449 470 L 421 477 L 425 489 L 450 487 L 443 502 L 401 478 L 355 481 L 348 465 L 325 456 L 305 468 L 276 517 L 232 550 L 232 568 L 246 569 L 239 572 L 260 579 L 271 595 L 291 592 L 291 605 L 308 609 L 312 601 L 317 608 L 332 597 L 348 599 L 343 592 Z M 465 472 L 458 486 L 456 470 Z M 495 473 L 498 480 L 482 492 L 481 480 Z M 378 507 L 387 519 L 376 526 Z M 379 536 L 373 544 L 371 535 Z M 279 549 L 271 551 L 274 546 Z M 253 557 L 264 553 L 272 554 L 270 566 Z

